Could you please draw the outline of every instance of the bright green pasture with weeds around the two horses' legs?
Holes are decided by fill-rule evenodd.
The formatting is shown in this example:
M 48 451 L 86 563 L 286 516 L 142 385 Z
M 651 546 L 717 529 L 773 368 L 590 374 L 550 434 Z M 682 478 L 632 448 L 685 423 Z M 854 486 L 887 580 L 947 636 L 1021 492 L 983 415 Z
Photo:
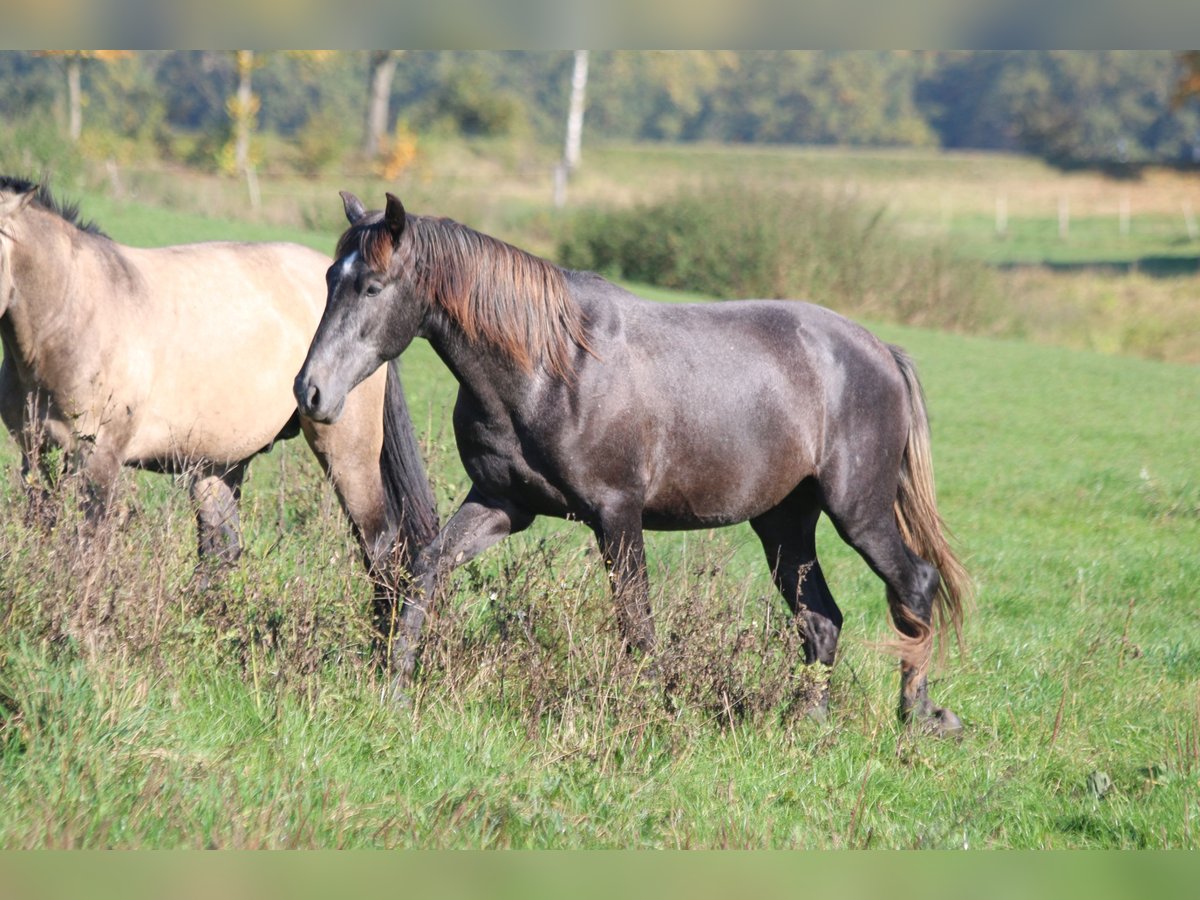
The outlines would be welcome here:
M 128 242 L 336 236 L 84 212 Z M 0 846 L 1198 848 L 1200 371 L 875 328 L 918 362 L 978 586 L 932 676 L 960 743 L 896 724 L 882 586 L 830 529 L 827 722 L 796 714 L 806 673 L 745 528 L 652 535 L 680 674 L 664 702 L 619 653 L 590 536 L 562 522 L 456 574 L 396 710 L 371 586 L 301 443 L 251 467 L 244 564 L 199 592 L 172 479 L 130 475 L 134 512 L 82 547 L 70 504 L 53 532 L 25 522 L 6 439 Z M 444 518 L 467 486 L 454 384 L 424 344 L 402 371 Z

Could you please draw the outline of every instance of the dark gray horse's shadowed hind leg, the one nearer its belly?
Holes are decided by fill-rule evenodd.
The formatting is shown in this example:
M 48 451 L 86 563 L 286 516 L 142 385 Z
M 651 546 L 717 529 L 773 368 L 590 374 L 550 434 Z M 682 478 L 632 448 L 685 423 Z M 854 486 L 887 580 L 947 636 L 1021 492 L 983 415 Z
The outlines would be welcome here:
M 798 493 L 750 520 L 750 527 L 762 541 L 775 587 L 799 619 L 804 661 L 832 667 L 842 617 L 817 560 L 816 526 L 820 516 L 816 500 Z M 826 680 L 812 714 L 824 718 L 828 708 L 829 684 Z

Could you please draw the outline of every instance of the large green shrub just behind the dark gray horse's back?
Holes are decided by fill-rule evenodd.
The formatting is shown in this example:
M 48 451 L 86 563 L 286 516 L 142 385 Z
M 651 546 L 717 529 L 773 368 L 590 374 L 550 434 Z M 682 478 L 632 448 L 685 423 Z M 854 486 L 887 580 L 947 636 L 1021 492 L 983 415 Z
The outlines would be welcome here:
M 728 184 L 625 210 L 581 211 L 570 268 L 718 298 L 803 298 L 842 312 L 979 329 L 998 287 L 944 242 L 899 234 L 884 209 L 806 190 Z

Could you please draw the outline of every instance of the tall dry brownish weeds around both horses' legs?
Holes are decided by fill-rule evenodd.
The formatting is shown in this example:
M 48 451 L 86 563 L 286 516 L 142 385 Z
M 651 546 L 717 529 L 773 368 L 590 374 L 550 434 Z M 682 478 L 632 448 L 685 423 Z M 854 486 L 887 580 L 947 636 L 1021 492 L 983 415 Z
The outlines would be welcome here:
M 256 461 L 244 494 L 246 550 L 217 577 L 197 565 L 182 476 L 124 473 L 112 514 L 90 523 L 77 475 L 35 494 L 30 516 L 8 468 L 4 665 L 16 665 L 20 646 L 102 677 L 133 667 L 170 683 L 199 665 L 308 706 L 329 690 L 380 696 L 388 676 L 371 652 L 373 586 L 331 490 L 302 454 L 288 445 Z M 416 715 L 431 703 L 494 706 L 530 733 L 571 744 L 682 714 L 725 727 L 810 708 L 826 673 L 803 666 L 796 623 L 769 580 L 728 574 L 721 542 L 654 578 L 653 660 L 622 649 L 592 544 L 586 529 L 557 523 L 458 570 L 427 626 Z M 23 721 L 10 709 L 5 727 L 20 731 Z

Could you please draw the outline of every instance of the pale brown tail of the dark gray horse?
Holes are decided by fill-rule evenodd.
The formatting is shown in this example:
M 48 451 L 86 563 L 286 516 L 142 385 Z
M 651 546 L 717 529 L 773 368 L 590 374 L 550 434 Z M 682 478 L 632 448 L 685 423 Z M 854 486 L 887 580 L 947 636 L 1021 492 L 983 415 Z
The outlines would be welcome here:
M 941 575 L 937 594 L 934 599 L 934 625 L 938 632 L 944 632 L 947 625 L 954 629 L 959 646 L 962 646 L 964 607 L 972 595 L 971 576 L 959 562 L 947 538 L 947 528 L 937 511 L 937 497 L 934 491 L 934 460 L 929 442 L 929 415 L 925 410 L 925 392 L 917 378 L 917 368 L 908 355 L 899 347 L 888 347 L 892 356 L 904 376 L 908 392 L 908 442 L 905 445 L 900 464 L 900 485 L 896 491 L 895 518 L 900 536 L 917 556 L 931 563 Z M 893 605 L 896 612 L 905 616 L 908 611 Z M 919 647 L 906 648 L 916 650 L 910 658 L 914 666 L 923 671 L 929 665 L 932 632 L 923 623 L 917 626 Z M 904 643 L 908 643 L 905 641 Z

